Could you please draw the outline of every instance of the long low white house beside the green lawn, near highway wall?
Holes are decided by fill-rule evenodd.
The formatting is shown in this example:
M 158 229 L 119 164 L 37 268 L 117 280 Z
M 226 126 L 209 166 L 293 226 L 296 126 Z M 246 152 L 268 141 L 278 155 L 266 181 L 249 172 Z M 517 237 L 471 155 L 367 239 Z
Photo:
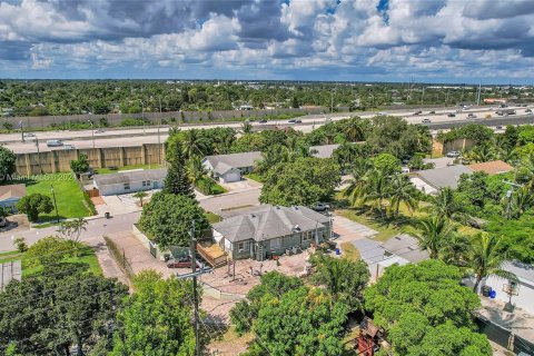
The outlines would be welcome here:
M 111 196 L 161 189 L 166 176 L 166 168 L 125 170 L 110 175 L 95 175 L 92 185 L 101 196 Z

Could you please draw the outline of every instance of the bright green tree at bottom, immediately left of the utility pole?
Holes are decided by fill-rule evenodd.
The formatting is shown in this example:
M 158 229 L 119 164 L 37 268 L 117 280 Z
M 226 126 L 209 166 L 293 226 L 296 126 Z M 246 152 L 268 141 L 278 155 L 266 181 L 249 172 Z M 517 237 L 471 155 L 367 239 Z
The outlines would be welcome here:
M 145 270 L 136 276 L 134 287 L 118 313 L 109 355 L 195 355 L 191 284 Z

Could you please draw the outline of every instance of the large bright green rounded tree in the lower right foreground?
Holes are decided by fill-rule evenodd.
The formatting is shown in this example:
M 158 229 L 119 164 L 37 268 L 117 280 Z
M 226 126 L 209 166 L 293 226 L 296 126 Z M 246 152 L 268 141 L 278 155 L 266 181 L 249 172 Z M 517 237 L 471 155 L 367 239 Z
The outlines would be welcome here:
M 461 279 L 457 267 L 427 260 L 388 267 L 364 291 L 365 307 L 387 332 L 395 355 L 492 355 L 471 314 L 481 301 Z

